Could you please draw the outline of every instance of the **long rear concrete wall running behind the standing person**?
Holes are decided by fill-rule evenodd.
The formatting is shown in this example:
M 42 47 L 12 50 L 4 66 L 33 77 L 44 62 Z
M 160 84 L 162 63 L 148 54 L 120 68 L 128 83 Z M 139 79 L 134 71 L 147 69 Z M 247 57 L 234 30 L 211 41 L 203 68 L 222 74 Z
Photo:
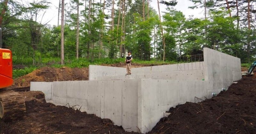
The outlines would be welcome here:
M 122 79 L 169 79 L 169 80 L 202 80 L 204 79 L 204 62 L 181 63 L 163 66 L 132 68 L 132 75 L 125 75 L 126 69 L 118 70 L 115 75 L 89 74 L 89 80 L 122 80 Z M 90 66 L 91 67 L 91 66 Z M 97 66 L 93 66 L 93 70 Z M 101 67 L 101 66 L 100 66 Z M 111 68 L 111 67 L 110 67 Z M 113 67 L 111 69 L 115 69 Z M 103 69 L 103 68 L 101 68 Z M 106 69 L 106 68 L 104 68 Z M 108 69 L 108 68 L 107 68 Z M 119 69 L 119 67 L 118 67 Z M 107 70 L 106 70 L 107 71 Z M 90 76 L 92 74 L 92 77 Z M 121 74 L 121 75 L 120 75 Z

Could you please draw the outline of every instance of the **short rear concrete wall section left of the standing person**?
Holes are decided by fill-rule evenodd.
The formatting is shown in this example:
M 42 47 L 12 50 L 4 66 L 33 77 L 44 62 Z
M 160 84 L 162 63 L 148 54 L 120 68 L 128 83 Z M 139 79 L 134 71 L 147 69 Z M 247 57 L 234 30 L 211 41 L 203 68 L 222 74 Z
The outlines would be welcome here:
M 103 80 L 101 77 L 125 75 L 126 69 L 123 67 L 107 67 L 107 66 L 89 66 L 89 80 Z

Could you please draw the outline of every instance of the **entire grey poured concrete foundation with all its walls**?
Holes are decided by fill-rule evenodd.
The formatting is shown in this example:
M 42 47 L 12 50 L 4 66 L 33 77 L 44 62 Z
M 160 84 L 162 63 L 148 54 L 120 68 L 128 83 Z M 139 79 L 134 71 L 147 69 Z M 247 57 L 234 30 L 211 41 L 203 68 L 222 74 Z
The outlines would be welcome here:
M 127 131 L 146 133 L 165 111 L 187 101 L 211 98 L 242 78 L 239 58 L 204 48 L 204 61 L 156 67 L 90 66 L 89 81 L 53 82 L 42 91 L 56 105 L 109 118 Z M 38 90 L 44 83 L 31 83 Z M 50 85 L 50 84 L 49 84 Z M 138 130 L 139 129 L 139 130 Z

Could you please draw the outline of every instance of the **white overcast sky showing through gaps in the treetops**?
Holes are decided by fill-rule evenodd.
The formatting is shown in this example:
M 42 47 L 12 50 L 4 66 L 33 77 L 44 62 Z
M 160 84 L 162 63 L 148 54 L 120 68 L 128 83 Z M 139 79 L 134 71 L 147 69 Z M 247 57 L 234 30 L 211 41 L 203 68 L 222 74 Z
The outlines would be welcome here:
M 25 0 L 23 0 L 25 1 Z M 28 0 L 29 2 L 32 2 L 33 0 Z M 96 1 L 96 0 L 95 0 Z M 168 1 L 168 0 L 167 0 Z M 189 9 L 189 6 L 192 6 L 193 3 L 188 0 L 177 0 L 178 4 L 174 7 L 178 11 L 183 12 L 183 14 L 186 16 L 186 18 L 189 17 L 189 15 L 194 15 L 195 18 L 202 18 L 204 16 L 203 9 Z M 65 3 L 69 2 L 69 0 L 65 0 Z M 59 6 L 59 0 L 51 0 L 50 8 L 47 9 L 44 17 L 43 17 L 43 24 L 49 22 L 50 25 L 57 25 L 58 23 L 58 6 Z M 157 8 L 157 0 L 152 0 L 150 3 L 151 6 L 158 11 Z M 83 7 L 80 7 L 81 9 L 84 9 Z M 165 12 L 166 6 L 163 4 L 160 4 L 160 12 L 161 16 L 163 15 L 162 12 Z M 74 9 L 76 10 L 76 9 Z M 61 18 L 60 18 L 61 19 Z

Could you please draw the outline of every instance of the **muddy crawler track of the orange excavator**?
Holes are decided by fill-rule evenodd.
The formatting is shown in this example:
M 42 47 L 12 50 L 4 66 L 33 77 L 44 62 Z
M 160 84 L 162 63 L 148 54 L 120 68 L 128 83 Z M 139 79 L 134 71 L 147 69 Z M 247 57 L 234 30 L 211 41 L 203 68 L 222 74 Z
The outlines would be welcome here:
M 18 92 L 0 90 L 0 118 L 5 122 L 24 117 L 26 113 L 25 99 Z

